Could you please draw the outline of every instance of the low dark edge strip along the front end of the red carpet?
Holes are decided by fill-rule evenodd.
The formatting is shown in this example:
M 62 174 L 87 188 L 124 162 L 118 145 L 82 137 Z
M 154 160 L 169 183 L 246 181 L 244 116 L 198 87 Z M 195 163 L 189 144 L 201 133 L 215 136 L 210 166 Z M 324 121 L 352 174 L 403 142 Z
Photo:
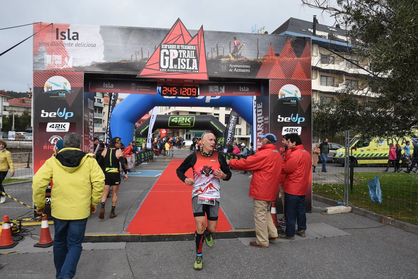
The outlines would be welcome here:
M 255 237 L 255 230 L 234 230 L 226 232 L 216 232 L 214 239 L 226 238 L 247 238 Z M 179 234 L 109 234 L 109 235 L 84 235 L 83 242 L 155 242 L 155 241 L 181 241 L 193 240 L 194 233 Z

